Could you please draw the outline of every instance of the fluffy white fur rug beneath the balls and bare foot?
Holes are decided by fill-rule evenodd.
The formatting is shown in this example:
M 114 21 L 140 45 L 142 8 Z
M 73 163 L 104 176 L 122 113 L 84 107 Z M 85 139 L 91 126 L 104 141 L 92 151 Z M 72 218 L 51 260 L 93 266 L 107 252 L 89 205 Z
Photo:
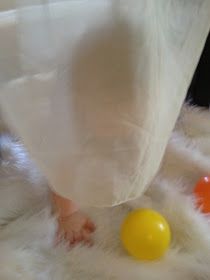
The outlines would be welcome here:
M 167 117 L 167 116 L 166 116 Z M 46 183 L 21 145 L 1 136 L 0 280 L 210 279 L 210 218 L 193 205 L 195 182 L 210 173 L 210 113 L 185 108 L 148 192 L 129 205 L 87 212 L 95 245 L 53 246 L 56 230 Z M 119 227 L 130 207 L 152 207 L 169 221 L 173 242 L 157 262 L 134 261 Z

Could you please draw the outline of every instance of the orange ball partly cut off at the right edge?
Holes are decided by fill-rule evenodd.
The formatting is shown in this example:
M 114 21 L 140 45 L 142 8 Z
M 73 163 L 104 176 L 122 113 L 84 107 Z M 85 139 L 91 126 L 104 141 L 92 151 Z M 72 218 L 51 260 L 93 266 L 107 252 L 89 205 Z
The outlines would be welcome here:
M 203 213 L 210 213 L 210 176 L 202 177 L 195 186 L 197 206 Z

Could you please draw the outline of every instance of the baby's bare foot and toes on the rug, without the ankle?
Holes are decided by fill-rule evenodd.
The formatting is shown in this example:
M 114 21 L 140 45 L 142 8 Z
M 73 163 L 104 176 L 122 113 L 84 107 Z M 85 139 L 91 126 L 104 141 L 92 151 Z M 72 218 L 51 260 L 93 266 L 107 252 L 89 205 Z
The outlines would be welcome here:
M 70 245 L 78 242 L 92 245 L 91 235 L 94 231 L 95 225 L 81 211 L 58 218 L 58 242 L 61 238 L 65 238 Z

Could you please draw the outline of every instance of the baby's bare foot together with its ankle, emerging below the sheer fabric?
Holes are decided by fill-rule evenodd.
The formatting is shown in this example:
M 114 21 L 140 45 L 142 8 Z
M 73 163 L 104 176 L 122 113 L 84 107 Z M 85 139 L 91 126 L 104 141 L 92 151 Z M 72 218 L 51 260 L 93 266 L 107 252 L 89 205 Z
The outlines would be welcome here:
M 91 245 L 91 235 L 95 231 L 92 221 L 71 200 L 52 193 L 52 201 L 58 213 L 57 243 L 65 238 L 69 245 L 79 242 Z

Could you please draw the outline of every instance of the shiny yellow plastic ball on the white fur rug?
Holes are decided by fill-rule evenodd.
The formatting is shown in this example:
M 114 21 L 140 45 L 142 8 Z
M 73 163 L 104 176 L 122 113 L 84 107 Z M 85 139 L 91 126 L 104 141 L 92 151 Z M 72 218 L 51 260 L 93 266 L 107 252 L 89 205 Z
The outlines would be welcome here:
M 171 241 L 165 218 L 151 209 L 128 214 L 121 227 L 121 240 L 127 252 L 139 260 L 155 260 L 164 255 Z

